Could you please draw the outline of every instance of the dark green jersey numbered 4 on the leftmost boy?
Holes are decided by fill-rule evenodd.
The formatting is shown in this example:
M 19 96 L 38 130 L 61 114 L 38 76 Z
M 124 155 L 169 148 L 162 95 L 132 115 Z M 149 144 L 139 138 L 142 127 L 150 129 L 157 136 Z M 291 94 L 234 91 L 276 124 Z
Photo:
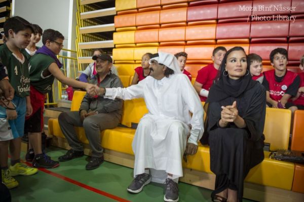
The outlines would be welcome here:
M 15 89 L 15 95 L 19 97 L 29 96 L 29 66 L 25 56 L 23 55 L 23 61 L 21 61 L 4 44 L 0 46 L 0 58 L 3 65 L 7 68 L 10 84 Z

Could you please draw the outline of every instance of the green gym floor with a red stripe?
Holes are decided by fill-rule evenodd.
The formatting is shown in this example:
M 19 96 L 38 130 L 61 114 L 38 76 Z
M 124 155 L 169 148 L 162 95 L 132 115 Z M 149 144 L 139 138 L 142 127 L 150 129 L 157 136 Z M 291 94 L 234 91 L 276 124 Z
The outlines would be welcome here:
M 66 150 L 49 147 L 52 159 Z M 24 159 L 24 153 L 21 155 Z M 126 188 L 133 179 L 133 169 L 104 162 L 98 169 L 86 171 L 87 156 L 62 162 L 55 169 L 41 169 L 32 176 L 17 176 L 19 186 L 11 189 L 12 202 L 93 202 L 93 201 L 164 201 L 164 185 L 150 183 L 138 194 Z M 211 190 L 178 183 L 179 201 L 211 201 Z M 243 201 L 251 201 L 244 199 Z

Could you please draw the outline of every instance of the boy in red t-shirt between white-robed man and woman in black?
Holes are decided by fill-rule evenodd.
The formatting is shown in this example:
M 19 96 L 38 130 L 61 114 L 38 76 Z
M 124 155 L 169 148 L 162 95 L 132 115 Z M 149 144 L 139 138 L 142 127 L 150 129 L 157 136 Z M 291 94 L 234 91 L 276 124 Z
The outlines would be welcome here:
M 211 57 L 211 59 L 213 60 L 213 64 L 209 64 L 198 71 L 198 76 L 193 86 L 199 94 L 202 102 L 205 102 L 208 97 L 209 89 L 213 84 L 213 80 L 218 73 L 219 65 L 222 59 L 224 58 L 226 52 L 227 50 L 225 49 L 225 47 L 216 47 L 213 50 Z

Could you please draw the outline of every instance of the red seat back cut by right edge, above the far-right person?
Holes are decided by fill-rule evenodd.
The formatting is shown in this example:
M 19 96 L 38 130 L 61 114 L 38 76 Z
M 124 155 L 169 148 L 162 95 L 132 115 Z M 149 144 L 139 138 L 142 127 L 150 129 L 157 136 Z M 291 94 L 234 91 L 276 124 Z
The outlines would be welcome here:
M 299 65 L 304 54 L 304 43 L 290 43 L 288 45 L 288 65 Z

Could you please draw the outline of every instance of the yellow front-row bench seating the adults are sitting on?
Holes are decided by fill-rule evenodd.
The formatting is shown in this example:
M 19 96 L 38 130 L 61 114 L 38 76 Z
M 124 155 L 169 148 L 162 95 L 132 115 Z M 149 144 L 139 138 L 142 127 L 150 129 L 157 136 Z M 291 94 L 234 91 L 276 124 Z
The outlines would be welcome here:
M 74 97 L 71 104 L 71 110 L 79 109 L 81 100 L 84 95 L 85 92 L 76 91 L 74 93 Z M 122 124 L 130 127 L 131 123 L 138 123 L 139 119 L 146 112 L 147 109 L 145 107 L 145 103 L 143 99 L 126 100 L 124 101 Z M 289 112 L 290 111 L 287 109 L 267 108 L 265 123 L 270 125 L 271 127 L 266 126 L 264 130 L 264 134 L 267 142 L 270 143 L 271 148 L 278 148 L 278 147 L 280 148 L 281 145 L 285 145 L 286 143 L 285 137 L 287 136 L 286 133 L 289 134 L 289 126 L 290 126 L 291 113 Z M 278 122 L 277 118 L 284 120 L 285 123 Z M 276 134 L 272 134 L 274 130 L 271 130 L 271 128 L 276 129 L 275 130 Z M 60 137 L 62 139 L 64 138 L 58 124 L 58 119 L 55 118 L 49 119 L 49 134 L 56 137 Z M 79 138 L 83 143 L 88 144 L 88 140 L 85 137 L 85 132 L 83 128 L 77 127 L 77 134 L 79 135 Z M 101 132 L 101 145 L 102 147 L 105 148 L 105 150 L 110 150 L 113 152 L 121 152 L 123 153 L 122 155 L 128 154 L 128 156 L 126 157 L 129 158 L 128 163 L 124 162 L 124 157 L 120 158 L 119 161 L 116 160 L 115 163 L 124 166 L 133 167 L 132 163 L 134 162 L 133 161 L 134 156 L 133 156 L 131 143 L 134 134 L 135 134 L 134 129 L 124 128 L 124 127 L 117 127 L 116 129 L 105 130 Z M 264 151 L 264 154 L 265 154 L 265 158 L 262 161 L 262 163 L 254 167 L 249 172 L 245 181 L 260 184 L 263 186 L 271 186 L 285 190 L 291 190 L 293 176 L 294 176 L 294 169 L 295 169 L 294 164 L 270 159 L 269 151 Z M 107 159 L 107 160 L 111 161 L 111 159 Z M 192 172 L 193 170 L 195 170 L 201 172 L 199 174 L 206 173 L 208 177 L 211 176 L 209 179 L 209 185 L 205 185 L 205 184 L 199 184 L 199 185 L 206 188 L 212 188 L 212 186 L 210 187 L 210 184 L 212 183 L 214 184 L 214 177 L 213 177 L 214 175 L 210 171 L 210 157 L 209 157 L 208 146 L 204 146 L 200 144 L 197 154 L 193 156 L 188 156 L 188 163 L 183 162 L 183 168 L 186 170 L 185 172 L 188 171 Z M 185 179 L 182 179 L 182 181 L 198 185 L 197 182 L 192 181 L 193 176 L 185 175 L 184 178 Z

